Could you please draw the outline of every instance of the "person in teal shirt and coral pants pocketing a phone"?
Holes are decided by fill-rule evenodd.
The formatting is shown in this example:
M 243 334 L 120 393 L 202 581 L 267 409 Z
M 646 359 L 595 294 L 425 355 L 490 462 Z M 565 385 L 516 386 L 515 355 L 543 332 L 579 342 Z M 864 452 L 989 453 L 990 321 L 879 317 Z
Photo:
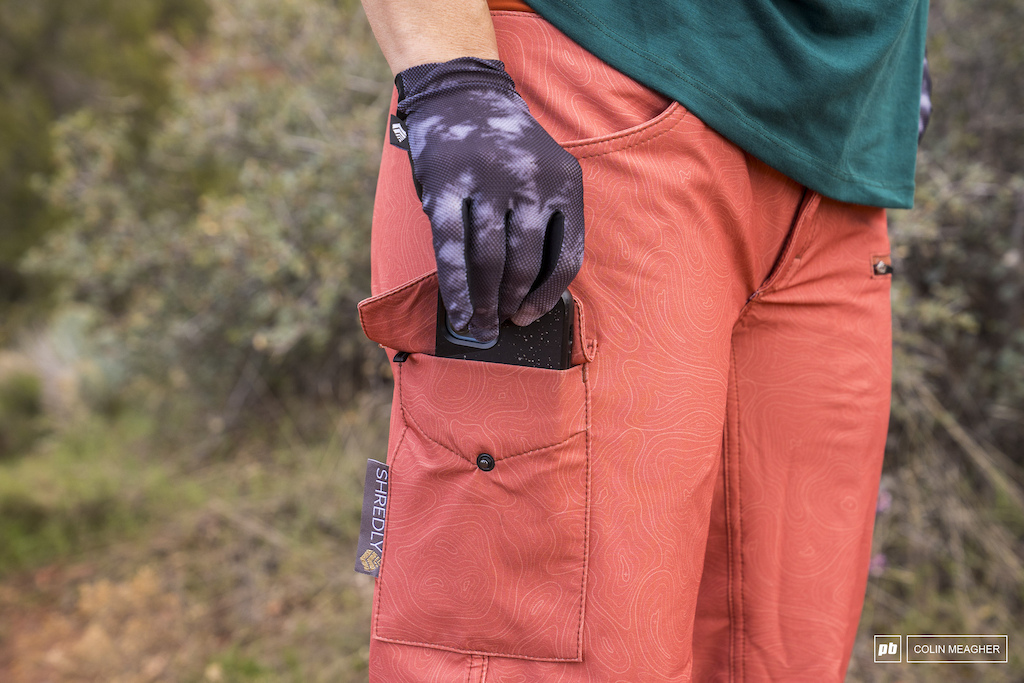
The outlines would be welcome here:
M 364 7 L 396 75 L 371 680 L 842 680 L 927 1 Z M 486 341 L 566 287 L 568 369 L 433 354 L 438 296 Z

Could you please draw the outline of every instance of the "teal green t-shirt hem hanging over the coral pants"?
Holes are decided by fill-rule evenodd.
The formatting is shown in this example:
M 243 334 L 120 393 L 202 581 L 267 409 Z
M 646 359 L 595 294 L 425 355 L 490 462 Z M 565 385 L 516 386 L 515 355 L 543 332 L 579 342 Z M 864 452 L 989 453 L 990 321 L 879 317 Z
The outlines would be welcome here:
M 928 0 L 528 3 L 798 182 L 912 206 Z

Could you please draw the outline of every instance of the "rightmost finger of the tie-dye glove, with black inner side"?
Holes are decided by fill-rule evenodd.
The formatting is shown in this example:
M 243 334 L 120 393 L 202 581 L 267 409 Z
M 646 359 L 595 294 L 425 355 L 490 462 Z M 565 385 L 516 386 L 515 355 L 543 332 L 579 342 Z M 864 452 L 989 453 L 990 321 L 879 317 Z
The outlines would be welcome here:
M 513 313 L 512 322 L 526 326 L 558 302 L 583 265 L 583 211 L 556 211 L 548 221 L 541 271 Z

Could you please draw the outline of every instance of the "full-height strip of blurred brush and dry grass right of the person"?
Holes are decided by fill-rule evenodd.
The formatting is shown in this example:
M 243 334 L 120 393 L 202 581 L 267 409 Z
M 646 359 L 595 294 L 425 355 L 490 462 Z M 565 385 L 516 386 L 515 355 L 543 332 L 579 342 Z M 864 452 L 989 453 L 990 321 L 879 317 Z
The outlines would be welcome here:
M 912 211 L 890 227 L 893 413 L 878 551 L 851 678 L 927 681 L 872 664 L 874 633 L 1024 636 L 1024 5 L 932 2 L 936 113 Z M 1024 659 L 949 667 L 1012 681 Z M 880 671 L 885 670 L 885 671 Z

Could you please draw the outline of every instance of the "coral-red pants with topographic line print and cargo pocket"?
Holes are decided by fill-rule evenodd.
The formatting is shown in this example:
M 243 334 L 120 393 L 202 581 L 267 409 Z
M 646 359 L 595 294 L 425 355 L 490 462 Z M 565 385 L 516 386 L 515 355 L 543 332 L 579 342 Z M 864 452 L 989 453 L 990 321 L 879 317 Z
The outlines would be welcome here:
M 889 410 L 885 211 L 806 189 L 539 16 L 494 17 L 583 170 L 590 352 L 393 364 L 370 680 L 843 680 Z M 381 339 L 426 325 L 386 303 L 435 267 L 420 206 L 387 145 Z

